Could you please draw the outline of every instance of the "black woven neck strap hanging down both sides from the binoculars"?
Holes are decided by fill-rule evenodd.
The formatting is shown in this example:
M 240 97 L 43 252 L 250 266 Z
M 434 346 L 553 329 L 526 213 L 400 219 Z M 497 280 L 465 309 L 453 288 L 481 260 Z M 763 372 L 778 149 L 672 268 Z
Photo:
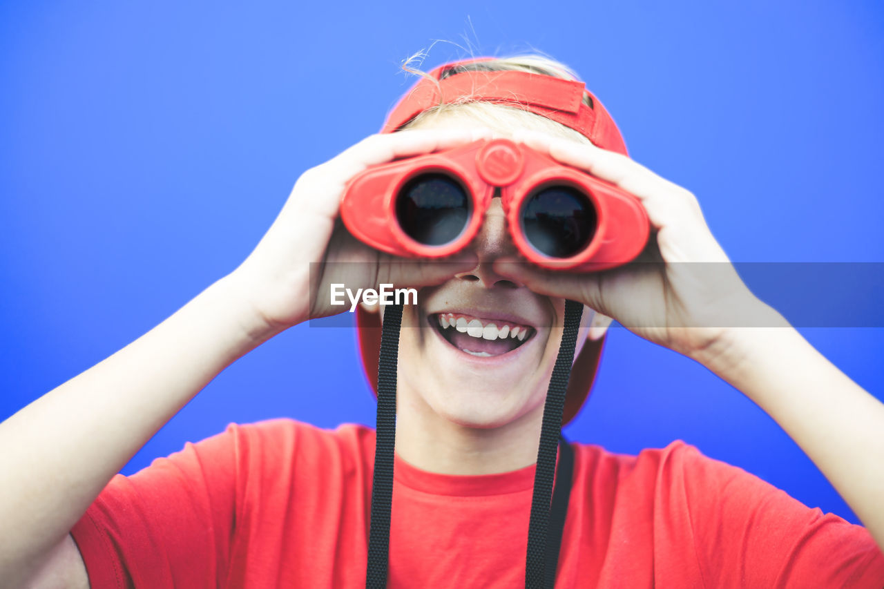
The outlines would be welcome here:
M 568 496 L 574 468 L 574 452 L 568 442 L 561 438 L 561 416 L 582 314 L 582 304 L 565 302 L 564 333 L 546 394 L 537 448 L 537 470 L 534 475 L 525 565 L 525 586 L 528 589 L 552 589 L 555 584 L 561 534 L 568 513 Z M 365 575 L 365 586 L 368 589 L 385 589 L 387 580 L 393 456 L 396 446 L 396 367 L 401 323 L 402 306 L 386 305 L 377 369 L 377 441 L 371 487 L 369 555 Z

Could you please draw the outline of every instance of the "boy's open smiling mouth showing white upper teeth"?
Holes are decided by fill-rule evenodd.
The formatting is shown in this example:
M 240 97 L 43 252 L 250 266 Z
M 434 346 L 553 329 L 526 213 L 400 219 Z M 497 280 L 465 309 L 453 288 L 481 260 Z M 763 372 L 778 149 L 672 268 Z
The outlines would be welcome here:
M 427 320 L 442 339 L 471 356 L 502 356 L 522 347 L 537 333 L 530 325 L 462 313 L 433 313 Z

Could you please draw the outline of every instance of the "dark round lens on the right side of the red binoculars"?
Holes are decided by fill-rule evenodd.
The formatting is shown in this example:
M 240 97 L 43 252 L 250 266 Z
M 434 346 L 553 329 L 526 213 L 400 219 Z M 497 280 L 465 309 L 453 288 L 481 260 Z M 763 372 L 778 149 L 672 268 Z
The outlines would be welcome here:
M 595 207 L 575 187 L 545 187 L 522 206 L 525 237 L 546 256 L 577 255 L 590 244 L 597 225 Z

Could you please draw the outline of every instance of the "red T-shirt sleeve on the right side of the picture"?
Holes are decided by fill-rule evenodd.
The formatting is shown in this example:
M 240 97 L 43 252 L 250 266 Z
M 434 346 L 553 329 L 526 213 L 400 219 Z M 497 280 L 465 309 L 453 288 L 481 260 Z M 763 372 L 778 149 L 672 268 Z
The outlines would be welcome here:
M 697 559 L 714 587 L 884 586 L 884 555 L 863 526 L 810 509 L 754 475 L 682 445 L 670 455 Z

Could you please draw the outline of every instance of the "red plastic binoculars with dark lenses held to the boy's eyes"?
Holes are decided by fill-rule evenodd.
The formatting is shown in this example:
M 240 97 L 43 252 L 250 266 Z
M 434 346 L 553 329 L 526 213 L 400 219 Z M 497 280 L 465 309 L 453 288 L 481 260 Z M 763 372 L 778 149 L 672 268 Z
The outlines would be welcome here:
M 632 261 L 648 240 L 635 196 L 507 139 L 371 167 L 347 183 L 341 218 L 386 253 L 450 256 L 476 237 L 497 191 L 515 246 L 540 266 L 606 270 Z

